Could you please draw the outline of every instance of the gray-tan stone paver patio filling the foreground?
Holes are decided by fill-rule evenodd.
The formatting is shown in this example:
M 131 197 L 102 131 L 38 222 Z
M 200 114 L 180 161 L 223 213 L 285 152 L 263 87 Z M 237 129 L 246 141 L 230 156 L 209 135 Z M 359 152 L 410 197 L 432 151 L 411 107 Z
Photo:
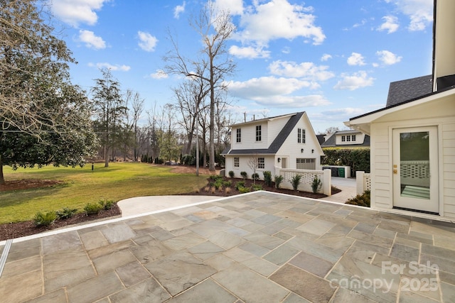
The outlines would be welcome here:
M 455 224 L 255 192 L 16 239 L 0 298 L 455 302 Z

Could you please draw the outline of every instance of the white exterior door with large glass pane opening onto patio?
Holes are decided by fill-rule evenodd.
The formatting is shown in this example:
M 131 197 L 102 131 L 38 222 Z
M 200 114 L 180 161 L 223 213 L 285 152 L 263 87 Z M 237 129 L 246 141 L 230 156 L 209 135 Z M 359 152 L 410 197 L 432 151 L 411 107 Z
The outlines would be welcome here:
M 393 206 L 439 214 L 437 127 L 393 130 Z

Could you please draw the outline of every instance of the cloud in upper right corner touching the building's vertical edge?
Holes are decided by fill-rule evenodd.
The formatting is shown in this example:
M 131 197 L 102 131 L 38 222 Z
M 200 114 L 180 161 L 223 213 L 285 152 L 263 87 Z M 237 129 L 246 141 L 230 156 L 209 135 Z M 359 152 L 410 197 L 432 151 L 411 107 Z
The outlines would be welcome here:
M 433 0 L 390 0 L 410 18 L 410 31 L 424 31 L 433 21 Z

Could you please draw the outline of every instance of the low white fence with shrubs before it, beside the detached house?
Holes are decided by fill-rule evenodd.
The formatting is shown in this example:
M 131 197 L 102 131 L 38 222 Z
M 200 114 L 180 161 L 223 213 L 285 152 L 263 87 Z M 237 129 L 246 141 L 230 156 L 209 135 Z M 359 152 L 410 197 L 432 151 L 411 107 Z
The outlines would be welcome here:
M 301 190 L 302 192 L 313 192 L 311 183 L 313 182 L 314 177 L 318 177 L 322 182 L 318 193 L 326 194 L 327 196 L 331 196 L 332 194 L 331 170 L 296 170 L 275 167 L 275 172 L 276 175 L 283 176 L 283 182 L 280 184 L 281 188 L 294 189 L 291 180 L 295 175 L 300 175 L 301 179 L 297 190 Z

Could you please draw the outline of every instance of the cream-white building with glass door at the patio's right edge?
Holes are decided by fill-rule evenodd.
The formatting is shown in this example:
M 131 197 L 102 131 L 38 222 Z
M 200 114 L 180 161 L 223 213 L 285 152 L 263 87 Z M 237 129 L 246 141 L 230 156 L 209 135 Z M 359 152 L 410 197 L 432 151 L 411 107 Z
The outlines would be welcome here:
M 432 75 L 390 84 L 384 109 L 346 122 L 371 136 L 371 207 L 455 220 L 455 1 L 434 1 Z

